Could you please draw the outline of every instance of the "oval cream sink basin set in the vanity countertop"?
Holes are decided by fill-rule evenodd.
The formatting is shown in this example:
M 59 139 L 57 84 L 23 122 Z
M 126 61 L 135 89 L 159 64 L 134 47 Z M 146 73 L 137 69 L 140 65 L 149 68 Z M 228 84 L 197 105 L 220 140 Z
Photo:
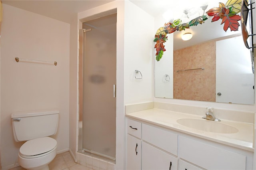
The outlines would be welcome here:
M 210 121 L 206 119 L 178 119 L 177 122 L 180 125 L 194 128 L 198 130 L 203 130 L 206 132 L 214 133 L 236 133 L 238 129 L 230 125 L 226 125 L 217 121 Z

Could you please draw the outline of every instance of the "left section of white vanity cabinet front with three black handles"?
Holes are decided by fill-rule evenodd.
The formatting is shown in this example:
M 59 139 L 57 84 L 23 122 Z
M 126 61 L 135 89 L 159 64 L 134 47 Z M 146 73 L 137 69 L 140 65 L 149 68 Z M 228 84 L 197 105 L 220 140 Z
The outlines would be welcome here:
M 178 135 L 127 121 L 128 170 L 178 170 Z

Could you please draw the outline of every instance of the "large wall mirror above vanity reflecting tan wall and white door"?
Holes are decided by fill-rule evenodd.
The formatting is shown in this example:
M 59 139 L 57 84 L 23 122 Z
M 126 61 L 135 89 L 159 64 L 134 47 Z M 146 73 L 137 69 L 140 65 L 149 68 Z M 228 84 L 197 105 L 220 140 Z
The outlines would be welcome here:
M 155 61 L 155 97 L 254 104 L 251 51 L 241 27 L 225 32 L 221 21 L 211 20 L 168 34 L 166 51 Z M 187 32 L 192 39 L 181 40 Z

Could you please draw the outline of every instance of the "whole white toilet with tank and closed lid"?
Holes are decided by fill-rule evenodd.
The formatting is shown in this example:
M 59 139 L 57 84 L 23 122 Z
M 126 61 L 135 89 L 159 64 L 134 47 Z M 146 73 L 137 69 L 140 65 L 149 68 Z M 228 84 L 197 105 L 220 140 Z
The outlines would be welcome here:
M 18 154 L 20 166 L 28 170 L 49 170 L 56 156 L 59 111 L 16 112 L 11 115 L 14 140 L 26 141 Z

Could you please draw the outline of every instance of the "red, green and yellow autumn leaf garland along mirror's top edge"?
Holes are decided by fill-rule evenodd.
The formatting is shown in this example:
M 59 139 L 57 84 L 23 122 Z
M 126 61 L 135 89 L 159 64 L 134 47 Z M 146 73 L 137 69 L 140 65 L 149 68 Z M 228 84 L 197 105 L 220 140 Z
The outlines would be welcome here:
M 214 7 L 206 12 L 208 16 L 213 16 L 212 22 L 222 20 L 221 25 L 224 24 L 224 31 L 226 32 L 228 28 L 231 31 L 237 31 L 240 24 L 238 23 L 241 20 L 241 16 L 237 15 L 241 9 L 242 0 L 228 0 L 226 4 L 219 2 L 219 7 Z M 157 30 L 154 42 L 156 42 L 156 61 L 160 61 L 164 51 L 164 43 L 166 42 L 167 34 L 172 34 L 175 31 L 182 31 L 190 28 L 190 26 L 197 26 L 198 24 L 203 24 L 208 17 L 206 15 L 199 16 L 194 18 L 188 23 L 182 23 L 181 20 L 175 20 L 173 23 L 165 23 L 164 27 L 161 27 Z

